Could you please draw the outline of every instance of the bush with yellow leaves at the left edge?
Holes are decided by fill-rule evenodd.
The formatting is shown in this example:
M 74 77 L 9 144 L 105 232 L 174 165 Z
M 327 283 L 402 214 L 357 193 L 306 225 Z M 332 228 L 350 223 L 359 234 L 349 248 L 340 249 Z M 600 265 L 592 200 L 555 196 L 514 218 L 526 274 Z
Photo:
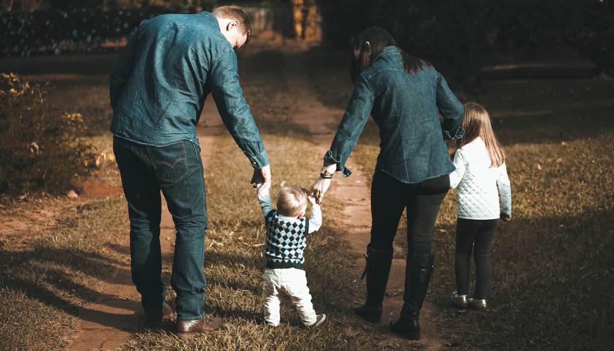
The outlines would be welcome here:
M 90 171 L 93 147 L 80 138 L 80 114 L 50 112 L 47 86 L 0 80 L 0 193 L 60 193 Z

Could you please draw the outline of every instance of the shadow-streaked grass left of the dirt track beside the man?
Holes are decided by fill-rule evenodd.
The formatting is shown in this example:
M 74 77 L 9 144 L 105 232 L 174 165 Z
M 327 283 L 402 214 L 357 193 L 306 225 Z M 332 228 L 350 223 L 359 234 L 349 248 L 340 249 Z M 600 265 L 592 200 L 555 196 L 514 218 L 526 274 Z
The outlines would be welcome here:
M 44 233 L 2 236 L 0 349 L 61 349 L 77 328 L 80 307 L 100 297 L 96 287 L 125 260 L 117 247 L 128 225 L 124 200 L 66 209 Z

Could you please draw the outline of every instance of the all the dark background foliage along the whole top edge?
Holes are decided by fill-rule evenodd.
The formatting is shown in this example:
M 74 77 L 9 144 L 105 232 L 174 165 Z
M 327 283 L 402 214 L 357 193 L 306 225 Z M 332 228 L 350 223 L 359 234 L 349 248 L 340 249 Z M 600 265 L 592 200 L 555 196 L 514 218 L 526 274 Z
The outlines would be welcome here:
M 240 1 L 247 5 L 291 0 Z M 300 2 L 300 1 L 298 1 Z M 168 12 L 195 12 L 216 0 L 1 0 L 0 55 L 117 50 L 142 20 Z M 387 29 L 412 55 L 432 61 L 465 85 L 500 55 L 538 56 L 575 50 L 594 63 L 594 75 L 614 75 L 612 0 L 303 0 L 322 15 L 325 41 L 347 47 L 368 26 Z M 9 10 L 10 11 L 7 11 Z

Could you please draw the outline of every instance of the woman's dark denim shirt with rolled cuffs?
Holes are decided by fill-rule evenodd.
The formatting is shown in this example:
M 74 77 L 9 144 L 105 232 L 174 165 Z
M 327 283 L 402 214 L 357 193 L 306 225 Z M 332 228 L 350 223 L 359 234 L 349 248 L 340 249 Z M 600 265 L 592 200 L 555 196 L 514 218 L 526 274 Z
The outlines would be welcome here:
M 443 123 L 437 117 L 443 115 Z M 450 174 L 444 139 L 459 139 L 463 129 L 463 106 L 433 67 L 410 75 L 403 70 L 402 52 L 386 47 L 365 69 L 354 85 L 343 119 L 324 165 L 345 167 L 369 114 L 379 126 L 380 151 L 375 171 L 384 171 L 403 183 Z M 443 137 L 442 137 L 443 134 Z

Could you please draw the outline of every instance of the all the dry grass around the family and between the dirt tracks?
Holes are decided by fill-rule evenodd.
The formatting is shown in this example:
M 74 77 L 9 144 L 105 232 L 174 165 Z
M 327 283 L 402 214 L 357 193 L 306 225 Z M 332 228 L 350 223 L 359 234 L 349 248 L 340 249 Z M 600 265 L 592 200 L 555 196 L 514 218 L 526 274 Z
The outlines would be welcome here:
M 322 102 L 344 108 L 351 93 L 346 55 L 313 50 L 308 58 L 312 65 L 307 73 Z M 31 79 L 51 80 L 50 109 L 81 112 L 92 140 L 99 149 L 109 149 L 104 72 L 114 56 L 71 56 L 71 63 L 99 63 L 81 69 L 62 64 L 65 59 L 2 63 Z M 282 181 L 308 186 L 321 159 L 314 152 L 317 145 L 298 128 L 280 123 L 291 121 L 297 101 L 284 92 L 276 60 L 275 52 L 244 54 L 239 60 L 247 101 L 273 161 L 273 196 Z M 484 82 L 488 93 L 459 94 L 464 101 L 475 99 L 487 106 L 508 154 L 514 218 L 500 225 L 492 247 L 491 311 L 462 312 L 449 305 L 456 220 L 451 191 L 433 236 L 436 272 L 427 297 L 435 306 L 438 332 L 453 349 L 608 349 L 614 342 L 614 150 L 609 140 L 614 82 L 510 76 L 515 73 L 497 71 L 496 79 Z M 330 322 L 322 328 L 304 328 L 285 299 L 281 326 L 263 325 L 264 259 L 258 245 L 264 228 L 248 184 L 251 169 L 227 133 L 216 138 L 216 152 L 205 170 L 210 217 L 206 311 L 227 318 L 228 329 L 178 339 L 173 323 L 166 323 L 161 330 L 136 334 L 123 349 L 419 348 L 420 344 L 389 341 L 386 328 L 365 325 L 352 315 L 348 306 L 363 297 L 363 287 L 352 282 L 354 271 L 348 263 L 355 257 L 341 239 L 335 220 L 341 209 L 333 203 L 324 205 L 324 226 L 309 238 L 306 251 L 314 306 Z M 352 154 L 367 171 L 373 169 L 378 142 L 376 126 L 368 123 Z M 101 173 L 106 182 L 117 183 L 112 164 Z M 50 205 L 43 201 L 14 206 Z M 63 218 L 51 228 L 0 236 L 0 349 L 61 349 L 77 328 L 80 307 L 99 296 L 96 287 L 104 284 L 111 264 L 128 259 L 120 249 L 128 233 L 124 199 L 65 208 Z M 403 226 L 397 240 L 406 245 Z M 169 271 L 164 275 L 168 281 Z

